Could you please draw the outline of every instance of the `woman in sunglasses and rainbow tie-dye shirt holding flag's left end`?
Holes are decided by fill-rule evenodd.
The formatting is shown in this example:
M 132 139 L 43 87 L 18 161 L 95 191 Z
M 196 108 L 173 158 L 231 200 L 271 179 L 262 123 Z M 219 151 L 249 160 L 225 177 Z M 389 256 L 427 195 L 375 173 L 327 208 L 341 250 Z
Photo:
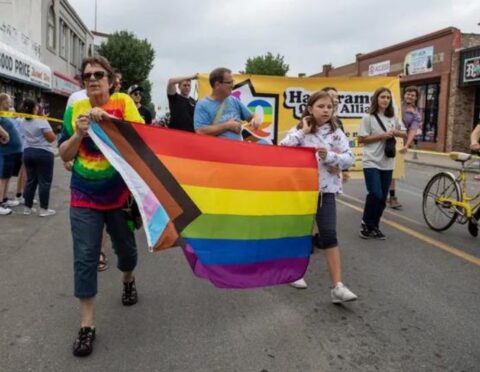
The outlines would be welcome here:
M 123 272 L 123 305 L 137 302 L 133 270 L 137 264 L 135 237 L 122 209 L 129 191 L 120 174 L 107 161 L 88 135 L 91 122 L 116 117 L 143 123 L 132 99 L 123 93 L 110 96 L 115 74 L 103 57 L 83 60 L 82 80 L 87 96 L 67 107 L 59 152 L 65 162 L 73 160 L 70 183 L 70 223 L 73 237 L 75 296 L 80 300 L 81 328 L 73 344 L 75 356 L 93 350 L 95 327 L 93 303 L 97 294 L 97 265 L 104 225 Z

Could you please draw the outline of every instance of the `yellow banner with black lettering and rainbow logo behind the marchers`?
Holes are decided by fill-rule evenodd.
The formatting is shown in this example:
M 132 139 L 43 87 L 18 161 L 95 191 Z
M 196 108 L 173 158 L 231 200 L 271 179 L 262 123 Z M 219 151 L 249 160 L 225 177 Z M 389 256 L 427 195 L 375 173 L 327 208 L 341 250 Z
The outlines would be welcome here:
M 344 125 L 350 147 L 356 156 L 350 169 L 352 178 L 362 178 L 362 147 L 358 146 L 357 129 L 361 118 L 368 113 L 370 99 L 379 87 L 392 91 L 397 117 L 401 117 L 400 84 L 396 77 L 333 77 L 291 78 L 261 75 L 234 75 L 232 95 L 238 98 L 252 113 L 262 119 L 259 130 L 244 131 L 246 140 L 277 143 L 296 126 L 305 109 L 310 94 L 324 87 L 338 91 L 337 117 Z M 198 78 L 198 98 L 210 94 L 207 74 Z M 397 141 L 401 148 L 402 141 Z M 403 156 L 397 152 L 394 178 L 404 176 Z

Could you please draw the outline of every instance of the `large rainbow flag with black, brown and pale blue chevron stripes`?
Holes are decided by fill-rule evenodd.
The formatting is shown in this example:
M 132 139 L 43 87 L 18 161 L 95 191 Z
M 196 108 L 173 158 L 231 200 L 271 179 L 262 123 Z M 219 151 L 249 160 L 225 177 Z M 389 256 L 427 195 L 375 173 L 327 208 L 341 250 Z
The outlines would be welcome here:
M 222 288 L 304 275 L 318 200 L 313 149 L 119 120 L 90 133 L 133 193 L 152 249 L 183 246 L 194 273 Z

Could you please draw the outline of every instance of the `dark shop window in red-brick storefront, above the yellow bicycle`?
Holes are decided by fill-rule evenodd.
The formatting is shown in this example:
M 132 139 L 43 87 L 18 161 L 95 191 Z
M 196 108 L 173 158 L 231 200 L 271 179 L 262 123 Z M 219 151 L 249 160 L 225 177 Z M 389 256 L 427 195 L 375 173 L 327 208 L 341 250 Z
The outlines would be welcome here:
M 420 96 L 417 107 L 422 115 L 422 128 L 417 134 L 417 140 L 422 142 L 438 141 L 438 100 L 440 96 L 440 84 L 412 84 L 418 88 Z M 403 97 L 402 87 L 402 97 Z

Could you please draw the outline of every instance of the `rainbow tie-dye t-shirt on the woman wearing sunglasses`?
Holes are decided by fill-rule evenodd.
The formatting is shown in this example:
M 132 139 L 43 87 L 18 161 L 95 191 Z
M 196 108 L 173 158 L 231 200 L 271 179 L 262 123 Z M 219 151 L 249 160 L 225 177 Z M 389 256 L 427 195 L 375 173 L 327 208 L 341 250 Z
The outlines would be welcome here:
M 63 118 L 63 130 L 59 145 L 75 133 L 75 120 L 88 112 L 90 100 L 81 99 L 67 107 Z M 115 93 L 101 106 L 119 119 L 143 123 L 133 100 L 124 93 Z M 111 210 L 125 205 L 129 191 L 120 174 L 107 161 L 90 137 L 82 139 L 77 156 L 73 160 L 70 182 L 72 207 Z

